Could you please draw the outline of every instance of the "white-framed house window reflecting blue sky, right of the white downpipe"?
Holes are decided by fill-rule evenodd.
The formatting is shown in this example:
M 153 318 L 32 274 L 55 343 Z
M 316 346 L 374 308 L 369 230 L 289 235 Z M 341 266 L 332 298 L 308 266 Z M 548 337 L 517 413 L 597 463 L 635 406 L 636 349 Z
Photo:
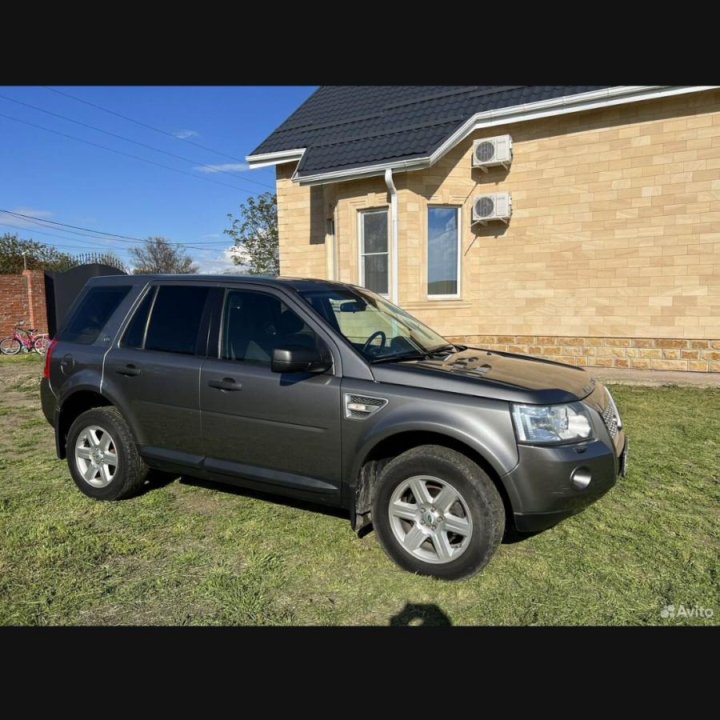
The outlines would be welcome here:
M 460 208 L 428 208 L 428 296 L 460 294 Z

